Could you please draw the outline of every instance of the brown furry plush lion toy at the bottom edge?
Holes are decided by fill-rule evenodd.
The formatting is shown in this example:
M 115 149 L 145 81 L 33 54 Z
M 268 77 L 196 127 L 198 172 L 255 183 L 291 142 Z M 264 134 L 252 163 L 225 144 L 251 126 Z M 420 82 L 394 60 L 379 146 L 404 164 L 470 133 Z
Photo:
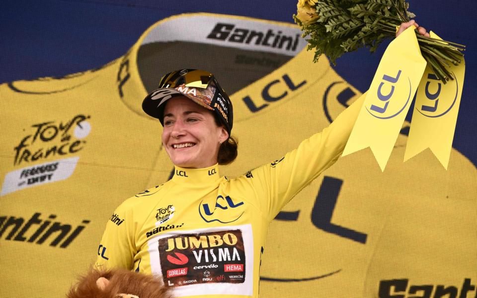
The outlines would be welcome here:
M 91 269 L 79 278 L 68 298 L 172 298 L 163 283 L 150 275 L 125 269 Z

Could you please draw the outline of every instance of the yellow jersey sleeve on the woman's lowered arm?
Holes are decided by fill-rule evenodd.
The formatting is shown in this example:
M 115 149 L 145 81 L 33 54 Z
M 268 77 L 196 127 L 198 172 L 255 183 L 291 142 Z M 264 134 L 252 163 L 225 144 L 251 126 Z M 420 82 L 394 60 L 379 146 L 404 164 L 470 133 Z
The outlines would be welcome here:
M 131 270 L 137 253 L 134 235 L 135 224 L 131 198 L 123 202 L 106 224 L 95 267 L 99 270 L 123 268 Z

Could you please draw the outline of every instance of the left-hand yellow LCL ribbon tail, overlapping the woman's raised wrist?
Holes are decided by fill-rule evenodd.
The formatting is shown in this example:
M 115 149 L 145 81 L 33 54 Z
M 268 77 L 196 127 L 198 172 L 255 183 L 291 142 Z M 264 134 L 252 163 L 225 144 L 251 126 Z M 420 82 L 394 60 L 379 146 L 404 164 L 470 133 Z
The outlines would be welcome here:
M 411 26 L 386 49 L 343 156 L 370 147 L 384 171 L 425 67 Z

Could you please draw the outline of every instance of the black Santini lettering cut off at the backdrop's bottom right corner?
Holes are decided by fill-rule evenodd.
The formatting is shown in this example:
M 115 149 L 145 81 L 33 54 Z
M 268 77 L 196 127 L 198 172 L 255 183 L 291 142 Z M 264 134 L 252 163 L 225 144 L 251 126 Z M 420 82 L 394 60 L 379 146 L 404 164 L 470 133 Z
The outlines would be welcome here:
M 460 289 L 459 289 L 460 288 Z M 422 298 L 467 298 L 469 292 L 476 291 L 476 285 L 465 278 L 462 286 L 432 285 L 429 283 L 413 285 L 408 279 L 382 280 L 379 284 L 378 298 L 412 298 L 419 292 Z M 431 296 L 434 292 L 434 296 Z M 412 296 L 409 296 L 412 295 Z M 469 298 L 474 297 L 470 296 Z

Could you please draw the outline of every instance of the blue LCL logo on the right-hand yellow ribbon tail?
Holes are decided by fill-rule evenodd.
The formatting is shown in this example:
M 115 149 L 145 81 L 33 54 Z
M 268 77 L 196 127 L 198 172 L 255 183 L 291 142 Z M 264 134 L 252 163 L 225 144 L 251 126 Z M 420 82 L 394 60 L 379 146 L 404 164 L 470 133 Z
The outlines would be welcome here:
M 454 74 L 454 77 L 455 77 L 455 74 Z M 459 82 L 457 81 L 457 79 L 454 79 L 453 81 L 455 82 L 455 85 L 453 87 L 455 88 L 455 93 L 456 93 L 454 96 L 454 99 L 445 98 L 445 97 L 443 98 L 439 96 L 441 94 L 441 87 L 442 87 L 441 81 L 435 74 L 428 74 L 424 92 L 425 92 L 426 98 L 430 102 L 423 104 L 420 107 L 416 105 L 415 107 L 416 110 L 422 115 L 426 117 L 430 117 L 430 118 L 437 118 L 447 114 L 450 110 L 452 110 L 452 108 L 454 107 L 454 104 L 457 101 Z M 431 92 L 430 89 L 435 90 L 435 92 Z M 439 103 L 439 99 L 441 100 L 440 103 Z

